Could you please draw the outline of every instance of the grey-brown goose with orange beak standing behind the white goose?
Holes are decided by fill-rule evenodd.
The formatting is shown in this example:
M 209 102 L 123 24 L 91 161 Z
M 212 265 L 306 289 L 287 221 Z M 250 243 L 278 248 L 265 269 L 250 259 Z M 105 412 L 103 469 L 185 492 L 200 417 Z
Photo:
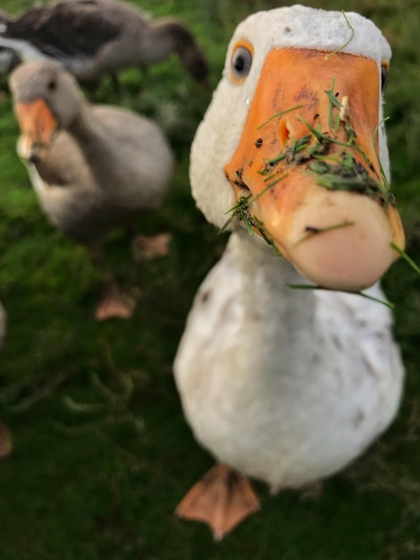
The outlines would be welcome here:
M 18 153 L 41 207 L 103 265 L 105 234 L 158 208 L 170 185 L 172 151 L 163 133 L 127 109 L 90 105 L 55 62 L 21 64 L 9 85 L 21 127 Z M 97 318 L 130 317 L 135 298 L 104 274 Z

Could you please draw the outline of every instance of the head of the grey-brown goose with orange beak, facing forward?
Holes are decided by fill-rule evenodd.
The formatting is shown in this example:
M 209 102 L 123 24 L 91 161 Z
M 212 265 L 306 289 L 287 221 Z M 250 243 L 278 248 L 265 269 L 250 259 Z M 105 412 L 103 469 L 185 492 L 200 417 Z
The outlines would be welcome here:
M 50 61 L 20 64 L 9 78 L 14 110 L 29 144 L 47 146 L 80 115 L 84 99 L 69 72 Z

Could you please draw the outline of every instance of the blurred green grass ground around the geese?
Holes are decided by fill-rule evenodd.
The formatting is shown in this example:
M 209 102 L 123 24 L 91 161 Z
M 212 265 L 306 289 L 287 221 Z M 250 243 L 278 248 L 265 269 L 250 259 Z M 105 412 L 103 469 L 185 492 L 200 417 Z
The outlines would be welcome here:
M 13 13 L 29 0 L 3 0 Z M 138 1 L 156 16 L 189 23 L 206 49 L 216 85 L 231 31 L 247 13 L 277 2 Z M 394 56 L 390 115 L 392 187 L 420 262 L 420 54 L 417 0 L 308 2 L 364 13 L 382 27 Z M 396 304 L 396 336 L 407 366 L 399 417 L 323 495 L 263 498 L 222 543 L 173 509 L 213 463 L 183 419 L 172 361 L 198 284 L 220 256 L 217 236 L 189 193 L 189 144 L 211 93 L 177 59 L 147 81 L 127 72 L 126 105 L 161 123 L 177 155 L 172 192 L 141 224 L 172 232 L 171 253 L 132 267 L 121 233 L 107 250 L 143 298 L 130 321 L 92 318 L 97 273 L 84 250 L 46 223 L 14 145 L 10 100 L 0 101 L 0 300 L 8 311 L 0 356 L 0 418 L 13 456 L 0 462 L 2 560 L 414 560 L 420 557 L 420 279 L 399 261 L 384 279 Z M 141 95 L 138 94 L 142 88 Z M 102 101 L 118 103 L 104 84 Z M 100 379 L 102 384 L 97 383 Z M 110 398 L 104 386 L 118 398 Z M 71 399 L 71 400 L 70 400 Z M 85 403 L 78 408 L 74 403 Z M 89 405 L 97 404 L 91 409 Z

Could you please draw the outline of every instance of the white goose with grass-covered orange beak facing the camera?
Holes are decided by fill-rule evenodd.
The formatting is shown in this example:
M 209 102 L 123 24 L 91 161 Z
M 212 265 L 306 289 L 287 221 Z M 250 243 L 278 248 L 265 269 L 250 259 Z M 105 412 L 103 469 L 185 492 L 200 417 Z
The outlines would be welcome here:
M 256 13 L 235 31 L 197 130 L 193 195 L 214 225 L 231 216 L 233 233 L 174 363 L 187 420 L 218 462 L 177 513 L 216 538 L 258 508 L 246 477 L 273 492 L 323 479 L 398 410 L 390 310 L 288 286 L 307 282 L 298 268 L 333 290 L 367 288 L 397 258 L 391 242 L 404 244 L 382 125 L 390 58 L 357 13 Z M 367 293 L 384 297 L 378 284 Z

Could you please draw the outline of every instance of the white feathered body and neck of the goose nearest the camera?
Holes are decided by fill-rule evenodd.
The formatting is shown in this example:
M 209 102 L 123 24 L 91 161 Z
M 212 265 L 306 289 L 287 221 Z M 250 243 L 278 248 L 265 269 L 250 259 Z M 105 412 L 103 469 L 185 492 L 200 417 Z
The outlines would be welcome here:
M 391 313 L 294 291 L 290 264 L 234 233 L 201 285 L 175 361 L 197 440 L 273 488 L 339 471 L 387 428 L 403 368 Z M 384 298 L 379 286 L 368 293 Z

